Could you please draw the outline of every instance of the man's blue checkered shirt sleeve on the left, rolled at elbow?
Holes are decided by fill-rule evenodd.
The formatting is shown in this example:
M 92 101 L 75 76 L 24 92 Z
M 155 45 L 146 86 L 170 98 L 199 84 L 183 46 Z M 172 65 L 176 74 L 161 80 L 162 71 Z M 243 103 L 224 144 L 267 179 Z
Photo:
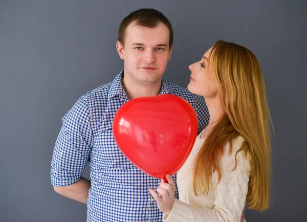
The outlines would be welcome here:
M 94 141 L 90 108 L 81 97 L 62 118 L 51 161 L 51 184 L 68 186 L 80 180 Z

